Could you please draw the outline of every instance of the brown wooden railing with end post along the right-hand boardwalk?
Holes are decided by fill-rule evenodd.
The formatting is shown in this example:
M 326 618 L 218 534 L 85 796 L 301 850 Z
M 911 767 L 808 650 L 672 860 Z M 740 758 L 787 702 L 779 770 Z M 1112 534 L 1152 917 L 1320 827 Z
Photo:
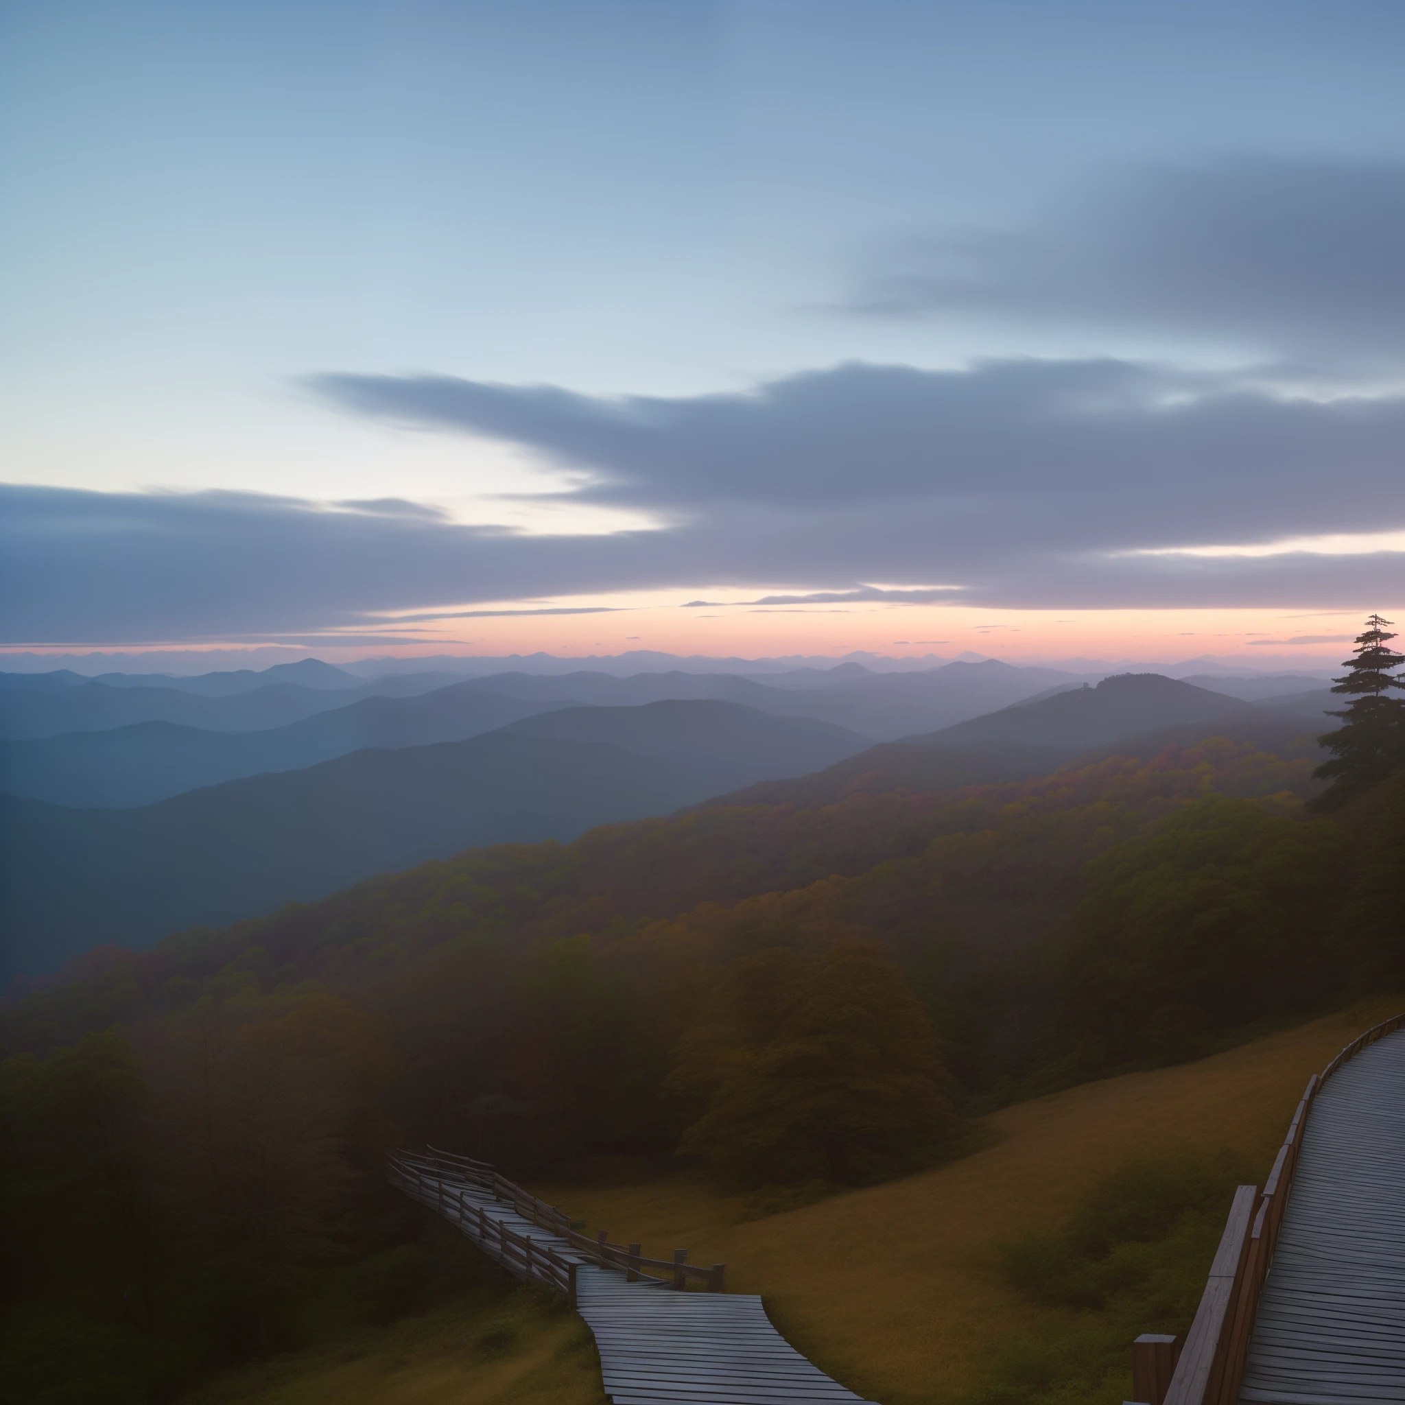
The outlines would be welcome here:
M 1259 1298 L 1279 1245 L 1293 1193 L 1308 1113 L 1322 1085 L 1346 1062 L 1405 1027 L 1395 1014 L 1352 1040 L 1308 1079 L 1263 1184 L 1241 1186 L 1220 1239 L 1204 1295 L 1182 1346 L 1175 1338 L 1139 1336 L 1132 1343 L 1132 1397 L 1142 1405 L 1236 1405 Z

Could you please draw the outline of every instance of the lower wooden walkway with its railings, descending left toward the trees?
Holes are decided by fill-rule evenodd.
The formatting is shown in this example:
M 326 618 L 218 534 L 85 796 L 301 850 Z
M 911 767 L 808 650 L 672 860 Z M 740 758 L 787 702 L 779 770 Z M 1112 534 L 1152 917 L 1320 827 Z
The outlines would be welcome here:
M 614 1405 L 867 1405 L 801 1356 L 759 1297 L 722 1293 L 721 1264 L 587 1239 L 482 1162 L 402 1152 L 391 1180 L 517 1277 L 568 1294 L 596 1339 Z M 690 1279 L 712 1291 L 677 1291 Z

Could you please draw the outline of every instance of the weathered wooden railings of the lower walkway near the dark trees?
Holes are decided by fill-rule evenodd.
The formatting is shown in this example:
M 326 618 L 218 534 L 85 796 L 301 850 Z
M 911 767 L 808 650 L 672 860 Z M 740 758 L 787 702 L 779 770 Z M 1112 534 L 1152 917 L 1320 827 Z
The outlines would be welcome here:
M 710 1267 L 688 1263 L 687 1249 L 674 1249 L 672 1259 L 649 1259 L 638 1243 L 611 1243 L 601 1229 L 594 1239 L 580 1232 L 579 1221 L 523 1190 L 492 1166 L 434 1146 L 424 1152 L 398 1152 L 391 1158 L 391 1180 L 422 1204 L 459 1224 L 465 1234 L 481 1243 L 510 1273 L 520 1279 L 545 1283 L 565 1293 L 576 1305 L 576 1267 L 582 1260 L 603 1269 L 621 1269 L 628 1281 L 656 1280 L 670 1288 L 684 1290 L 688 1280 L 708 1293 L 726 1291 L 726 1264 Z M 488 1191 L 497 1204 L 510 1205 L 523 1220 L 540 1225 L 554 1239 L 565 1239 L 562 1252 L 532 1235 L 517 1234 L 489 1213 L 489 1205 L 471 1198 L 468 1187 Z

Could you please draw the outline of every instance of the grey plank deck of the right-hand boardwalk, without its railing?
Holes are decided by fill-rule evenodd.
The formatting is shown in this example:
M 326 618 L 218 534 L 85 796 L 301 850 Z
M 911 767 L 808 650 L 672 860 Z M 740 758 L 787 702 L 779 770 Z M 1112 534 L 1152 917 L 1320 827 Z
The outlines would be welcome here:
M 1239 1399 L 1405 1401 L 1405 1030 L 1316 1096 Z

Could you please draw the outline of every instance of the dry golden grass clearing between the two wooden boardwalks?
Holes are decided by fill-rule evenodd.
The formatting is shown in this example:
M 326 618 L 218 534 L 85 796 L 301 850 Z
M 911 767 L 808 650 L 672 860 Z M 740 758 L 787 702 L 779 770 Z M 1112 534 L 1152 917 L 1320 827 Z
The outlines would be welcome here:
M 1367 1002 L 1197 1064 L 1021 1103 L 989 1118 L 999 1141 L 975 1155 L 750 1224 L 686 1177 L 532 1189 L 645 1253 L 686 1245 L 695 1263 L 726 1263 L 732 1291 L 764 1294 L 785 1336 L 865 1399 L 944 1401 L 1031 1321 L 993 1272 L 995 1241 L 1057 1225 L 1100 1175 L 1162 1149 L 1228 1146 L 1266 1175 L 1308 1076 L 1398 1009 Z

